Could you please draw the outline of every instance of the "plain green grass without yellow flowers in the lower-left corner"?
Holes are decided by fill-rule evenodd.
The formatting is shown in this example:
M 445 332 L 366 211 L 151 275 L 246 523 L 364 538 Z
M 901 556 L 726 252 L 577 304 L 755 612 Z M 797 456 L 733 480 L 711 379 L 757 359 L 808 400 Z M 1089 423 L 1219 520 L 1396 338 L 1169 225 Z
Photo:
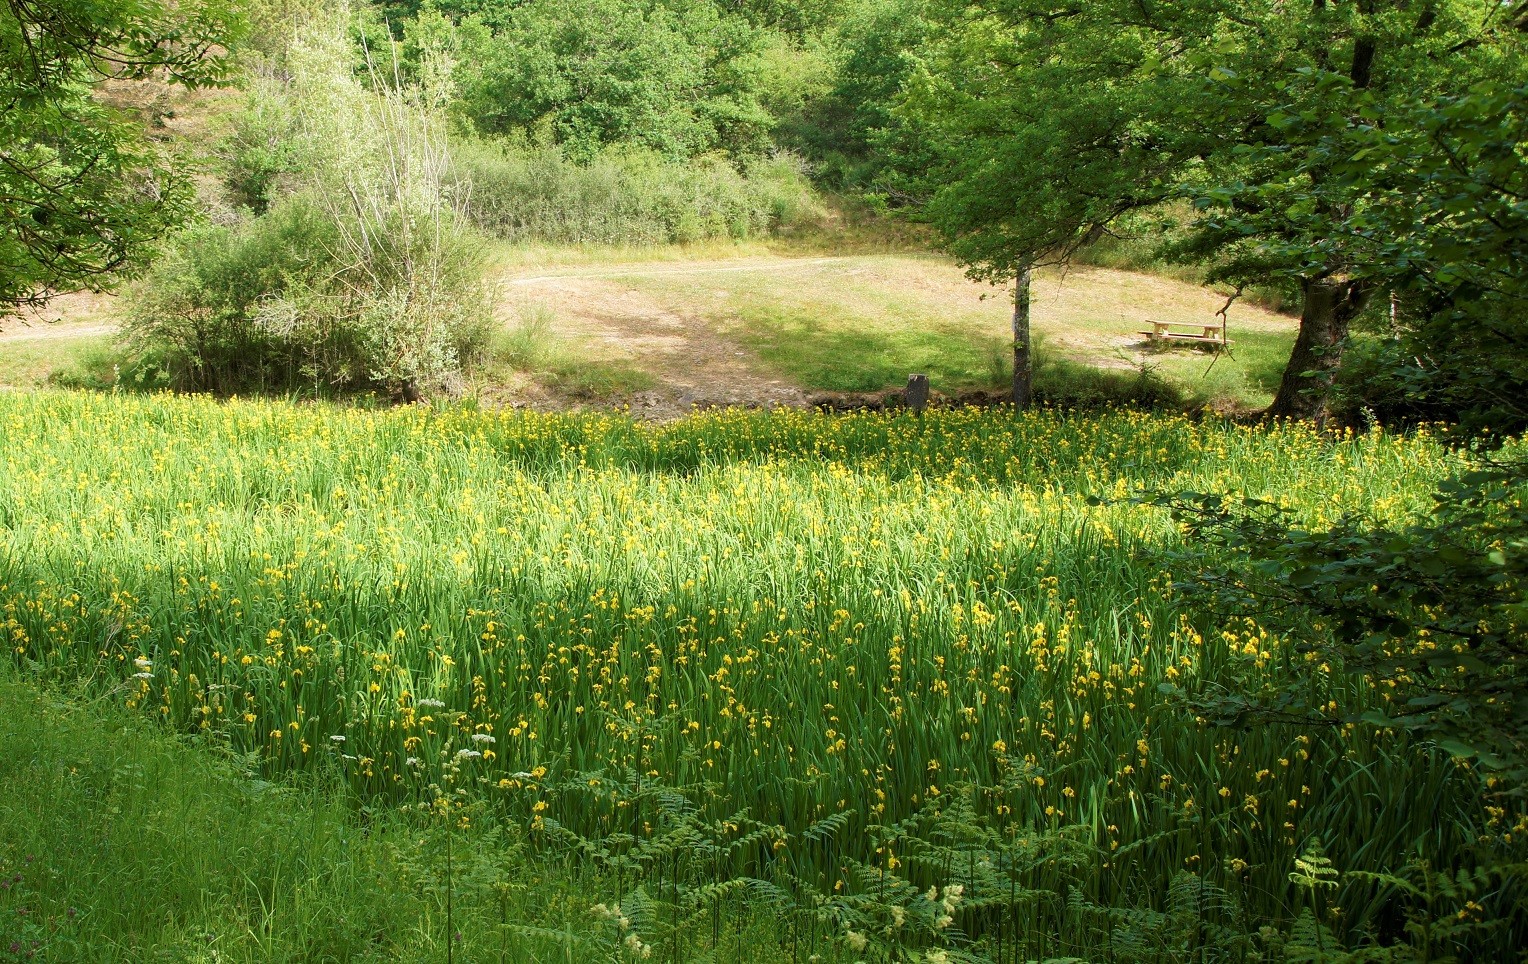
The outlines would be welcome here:
M 457 961 L 610 961 L 633 933 L 593 909 L 619 904 L 616 880 L 532 860 L 481 807 L 358 811 L 338 773 L 251 767 L 0 669 L 0 961 L 435 962 L 448 943 Z M 660 947 L 788 959 L 767 917 L 726 911 Z

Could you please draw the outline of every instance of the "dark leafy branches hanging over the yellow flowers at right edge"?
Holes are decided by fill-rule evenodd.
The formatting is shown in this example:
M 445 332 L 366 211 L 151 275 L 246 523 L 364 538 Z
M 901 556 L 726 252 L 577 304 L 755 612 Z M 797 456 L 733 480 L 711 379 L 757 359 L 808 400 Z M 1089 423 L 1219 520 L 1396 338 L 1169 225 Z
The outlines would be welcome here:
M 1430 518 L 1361 513 L 1293 526 L 1270 503 L 1174 501 L 1196 545 L 1219 553 L 1181 588 L 1216 613 L 1256 613 L 1290 634 L 1282 680 L 1230 686 L 1201 712 L 1400 727 L 1478 765 L 1493 796 L 1528 794 L 1528 513 L 1522 464 L 1445 483 Z M 1369 700 L 1331 701 L 1309 674 L 1355 674 Z

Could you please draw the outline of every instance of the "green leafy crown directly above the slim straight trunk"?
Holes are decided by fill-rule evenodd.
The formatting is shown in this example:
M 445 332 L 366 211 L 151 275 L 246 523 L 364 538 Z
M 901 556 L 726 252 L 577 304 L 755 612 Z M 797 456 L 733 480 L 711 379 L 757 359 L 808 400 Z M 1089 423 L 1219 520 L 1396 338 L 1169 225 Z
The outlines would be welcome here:
M 1148 32 L 1114 29 L 1111 5 L 1076 17 L 1042 6 L 935 6 L 937 32 L 903 95 L 902 115 L 927 128 L 937 156 L 929 220 L 995 283 L 1063 261 L 1094 228 L 1163 200 L 1172 151 L 1132 131 L 1169 102 L 1183 110 L 1187 93 L 1167 73 L 1120 82 L 1146 57 Z

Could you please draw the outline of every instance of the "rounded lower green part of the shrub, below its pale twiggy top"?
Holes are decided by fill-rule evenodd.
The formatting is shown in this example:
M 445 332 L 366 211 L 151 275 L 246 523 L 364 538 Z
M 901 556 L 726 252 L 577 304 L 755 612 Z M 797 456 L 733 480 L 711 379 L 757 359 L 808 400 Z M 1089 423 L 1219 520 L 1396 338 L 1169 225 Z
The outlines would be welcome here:
M 188 391 L 449 394 L 490 318 L 469 238 L 442 241 L 419 284 L 336 257 L 339 231 L 306 196 L 232 228 L 202 225 L 133 289 L 128 344 Z M 408 252 L 379 260 L 400 266 Z

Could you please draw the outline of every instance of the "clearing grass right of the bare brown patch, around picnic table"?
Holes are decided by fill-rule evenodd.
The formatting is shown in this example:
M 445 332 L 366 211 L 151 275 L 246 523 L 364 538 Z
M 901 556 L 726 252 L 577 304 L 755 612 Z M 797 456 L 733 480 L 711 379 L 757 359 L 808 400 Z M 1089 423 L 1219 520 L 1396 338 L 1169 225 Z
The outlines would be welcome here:
M 879 391 L 915 371 L 947 394 L 1007 385 L 1008 292 L 972 284 L 950 261 L 927 254 L 799 255 L 755 267 L 712 257 L 675 272 L 668 261 L 639 263 L 617 252 L 605 273 L 608 284 L 701 321 L 808 390 Z M 565 270 L 578 278 L 584 269 Z M 1076 367 L 1126 376 L 1148 370 L 1166 385 L 1163 394 L 1221 408 L 1267 405 L 1294 338 L 1293 319 L 1239 306 L 1232 312 L 1233 350 L 1212 368 L 1192 350 L 1140 353 L 1144 339 L 1137 330 L 1148 319 L 1213 324 L 1222 304 L 1213 292 L 1086 267 L 1042 273 L 1034 290 L 1036 339 L 1053 374 Z M 1047 385 L 1039 388 L 1044 394 Z M 1057 397 L 1074 394 L 1065 383 L 1050 388 Z

